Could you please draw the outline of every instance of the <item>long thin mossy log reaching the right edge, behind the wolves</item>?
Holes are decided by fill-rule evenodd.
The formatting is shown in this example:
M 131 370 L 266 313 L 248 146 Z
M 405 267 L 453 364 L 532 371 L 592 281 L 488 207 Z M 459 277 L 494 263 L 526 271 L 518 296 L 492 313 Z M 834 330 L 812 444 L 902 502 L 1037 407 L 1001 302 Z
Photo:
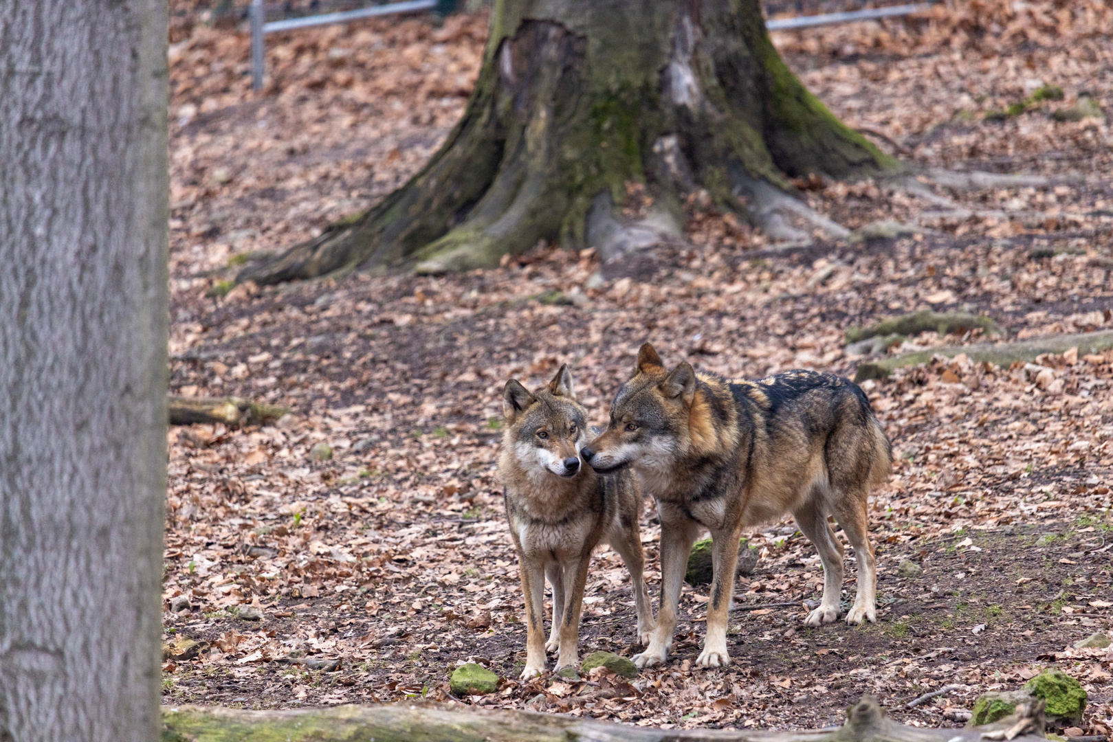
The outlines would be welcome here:
M 1045 353 L 1061 354 L 1077 348 L 1078 355 L 1097 354 L 1113 348 L 1113 330 L 1081 333 L 1078 335 L 1053 335 L 1016 343 L 975 343 L 974 345 L 944 345 L 938 348 L 905 353 L 892 358 L 881 358 L 858 365 L 855 382 L 869 378 L 885 378 L 897 368 L 926 364 L 935 356 L 954 358 L 958 354 L 974 363 L 987 363 L 1007 368 L 1016 362 L 1027 363 Z

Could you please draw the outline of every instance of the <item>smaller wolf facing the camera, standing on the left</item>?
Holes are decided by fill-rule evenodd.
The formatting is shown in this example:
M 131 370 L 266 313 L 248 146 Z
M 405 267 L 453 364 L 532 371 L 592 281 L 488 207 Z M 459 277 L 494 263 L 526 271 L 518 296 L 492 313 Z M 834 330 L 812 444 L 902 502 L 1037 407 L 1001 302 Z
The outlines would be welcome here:
M 643 577 L 637 477 L 631 472 L 603 476 L 582 465 L 580 449 L 590 437 L 588 415 L 575 400 L 568 366 L 561 366 L 546 387 L 532 394 L 518 380 L 508 382 L 503 413 L 506 431 L 499 475 L 525 595 L 522 677 L 544 671 L 546 650 L 558 651 L 556 667 L 577 663 L 588 565 L 592 550 L 603 541 L 630 571 L 638 637 L 646 644 L 653 631 L 653 613 Z M 548 643 L 543 625 L 546 577 L 553 594 Z

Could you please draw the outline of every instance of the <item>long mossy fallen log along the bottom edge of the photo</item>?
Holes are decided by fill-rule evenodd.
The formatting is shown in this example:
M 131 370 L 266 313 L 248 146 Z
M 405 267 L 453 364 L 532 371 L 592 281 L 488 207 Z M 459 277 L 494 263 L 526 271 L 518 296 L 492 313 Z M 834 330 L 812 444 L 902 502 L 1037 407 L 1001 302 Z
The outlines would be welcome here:
M 846 724 L 801 732 L 754 730 L 662 730 L 564 714 L 489 711 L 423 702 L 345 705 L 297 711 L 240 711 L 213 706 L 162 709 L 162 742 L 982 742 L 984 734 L 1024 730 L 1007 739 L 1037 742 L 1043 732 L 1042 704 L 995 724 L 972 729 L 924 729 L 890 719 L 875 699 L 864 698 L 847 713 Z M 1026 715 L 1028 714 L 1028 715 Z M 1002 735 L 1004 736 L 1004 735 Z

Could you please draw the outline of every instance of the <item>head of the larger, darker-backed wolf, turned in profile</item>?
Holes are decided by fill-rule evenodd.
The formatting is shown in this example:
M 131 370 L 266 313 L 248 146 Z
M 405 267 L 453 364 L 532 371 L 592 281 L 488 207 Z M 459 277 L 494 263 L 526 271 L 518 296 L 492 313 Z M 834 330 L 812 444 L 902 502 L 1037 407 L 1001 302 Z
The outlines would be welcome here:
M 632 465 L 643 474 L 667 476 L 689 447 L 695 396 L 691 364 L 667 370 L 647 343 L 638 352 L 633 377 L 611 404 L 607 429 L 581 451 L 583 459 L 601 473 Z

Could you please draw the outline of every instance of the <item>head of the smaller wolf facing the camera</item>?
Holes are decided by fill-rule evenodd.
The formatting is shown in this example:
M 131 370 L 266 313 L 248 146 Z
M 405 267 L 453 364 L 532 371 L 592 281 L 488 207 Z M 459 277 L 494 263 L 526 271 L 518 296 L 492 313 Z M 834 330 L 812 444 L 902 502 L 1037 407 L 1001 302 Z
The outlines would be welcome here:
M 552 474 L 572 478 L 580 473 L 588 414 L 575 400 L 567 364 L 548 386 L 532 394 L 518 379 L 506 382 L 502 410 L 506 417 L 503 446 L 531 478 Z

